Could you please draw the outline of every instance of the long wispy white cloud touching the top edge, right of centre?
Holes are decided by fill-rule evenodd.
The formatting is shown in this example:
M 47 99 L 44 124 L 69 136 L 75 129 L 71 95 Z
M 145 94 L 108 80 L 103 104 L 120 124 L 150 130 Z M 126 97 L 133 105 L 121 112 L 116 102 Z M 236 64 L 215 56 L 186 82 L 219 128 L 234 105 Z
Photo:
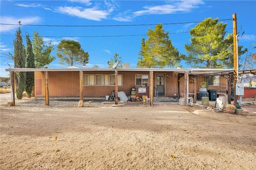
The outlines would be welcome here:
M 182 0 L 175 1 L 172 4 L 156 5 L 156 6 L 144 6 L 145 10 L 134 12 L 135 16 L 148 15 L 148 14 L 172 14 L 179 12 L 190 12 L 197 5 L 203 4 L 201 0 Z

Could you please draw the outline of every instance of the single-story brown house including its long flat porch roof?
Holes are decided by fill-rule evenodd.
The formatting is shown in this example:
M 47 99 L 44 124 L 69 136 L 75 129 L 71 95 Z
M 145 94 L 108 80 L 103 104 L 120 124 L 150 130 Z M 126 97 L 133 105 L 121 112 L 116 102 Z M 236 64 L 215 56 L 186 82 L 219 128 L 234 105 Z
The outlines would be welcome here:
M 131 88 L 141 97 L 185 97 L 194 96 L 199 90 L 205 75 L 219 72 L 232 72 L 230 69 L 117 69 L 118 86 L 115 86 L 114 69 L 6 69 L 15 72 L 35 73 L 35 97 L 103 97 L 111 94 L 116 88 L 130 95 Z M 214 81 L 208 89 L 226 93 L 227 77 L 214 75 Z M 48 91 L 48 92 L 47 92 Z M 48 95 L 49 94 L 49 95 Z M 153 103 L 153 100 L 151 101 Z

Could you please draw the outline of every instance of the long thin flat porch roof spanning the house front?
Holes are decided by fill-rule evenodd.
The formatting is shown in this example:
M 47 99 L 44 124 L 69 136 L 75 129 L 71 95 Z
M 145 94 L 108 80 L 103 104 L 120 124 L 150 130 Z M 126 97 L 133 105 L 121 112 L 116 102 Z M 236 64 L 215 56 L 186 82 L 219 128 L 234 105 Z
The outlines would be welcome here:
M 184 73 L 189 72 L 189 74 L 206 74 L 206 73 L 217 73 L 217 72 L 231 72 L 232 69 L 157 69 L 157 68 L 118 68 L 118 71 L 157 71 L 157 72 L 177 72 Z M 40 72 L 40 71 L 114 71 L 111 68 L 58 68 L 58 69 L 29 69 L 29 68 L 9 68 L 5 71 L 13 72 Z

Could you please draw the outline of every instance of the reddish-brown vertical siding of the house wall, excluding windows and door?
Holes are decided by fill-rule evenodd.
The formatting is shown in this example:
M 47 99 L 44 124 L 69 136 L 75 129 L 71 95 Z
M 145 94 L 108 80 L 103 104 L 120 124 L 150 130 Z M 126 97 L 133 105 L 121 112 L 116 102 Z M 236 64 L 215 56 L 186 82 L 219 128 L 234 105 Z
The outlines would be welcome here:
M 79 96 L 79 72 L 48 72 L 49 74 L 49 95 L 50 97 L 78 97 Z M 113 71 L 84 71 L 84 74 L 114 74 Z M 123 75 L 123 86 L 118 86 L 119 91 L 124 91 L 126 95 L 130 94 L 130 89 L 135 86 L 135 74 L 149 74 L 149 72 L 119 71 Z M 178 95 L 178 73 L 173 72 L 154 72 L 154 87 L 156 87 L 156 74 L 165 74 L 165 96 L 172 97 Z M 42 79 L 42 87 L 37 86 L 36 80 Z M 200 83 L 205 81 L 205 77 L 197 78 L 197 91 Z M 37 82 L 39 82 L 37 80 Z M 226 92 L 227 80 L 221 78 L 220 86 L 212 86 L 209 89 L 217 89 L 218 92 Z M 45 96 L 44 72 L 35 72 L 35 89 L 42 88 L 42 96 Z M 115 86 L 84 86 L 85 97 L 99 97 L 110 95 Z M 180 79 L 180 94 L 184 89 L 184 77 Z M 194 83 L 189 83 L 189 93 L 194 93 Z M 36 94 L 37 97 L 41 95 Z

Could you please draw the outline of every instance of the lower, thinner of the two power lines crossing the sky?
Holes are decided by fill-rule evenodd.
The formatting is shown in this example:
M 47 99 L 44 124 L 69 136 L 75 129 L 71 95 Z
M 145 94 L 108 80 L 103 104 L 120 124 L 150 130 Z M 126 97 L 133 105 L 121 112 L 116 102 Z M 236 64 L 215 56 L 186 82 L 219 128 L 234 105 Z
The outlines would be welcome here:
M 189 33 L 189 32 L 169 32 L 169 35 L 180 34 L 180 33 Z M 15 35 L 1 35 L 3 37 L 15 37 Z M 51 38 L 99 38 L 99 37 L 139 37 L 139 36 L 148 36 L 147 34 L 141 35 L 107 35 L 107 36 L 40 36 L 40 37 L 51 37 Z M 25 36 L 22 36 L 25 37 Z

